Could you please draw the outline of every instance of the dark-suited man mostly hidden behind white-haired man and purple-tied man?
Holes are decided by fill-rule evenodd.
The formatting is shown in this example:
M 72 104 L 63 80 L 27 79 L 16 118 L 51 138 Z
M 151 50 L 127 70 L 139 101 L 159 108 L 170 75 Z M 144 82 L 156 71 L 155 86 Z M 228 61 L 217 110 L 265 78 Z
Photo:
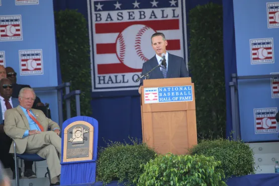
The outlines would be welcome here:
M 13 84 L 13 95 L 12 95 L 13 98 L 19 98 L 19 92 L 22 88 L 25 87 L 31 88 L 30 85 L 17 83 L 17 72 L 15 72 L 15 70 L 12 67 L 6 67 L 6 72 L 7 72 L 7 78 L 10 79 Z M 37 106 L 44 106 L 44 104 L 41 102 L 39 97 L 36 97 L 32 108 L 35 108 Z

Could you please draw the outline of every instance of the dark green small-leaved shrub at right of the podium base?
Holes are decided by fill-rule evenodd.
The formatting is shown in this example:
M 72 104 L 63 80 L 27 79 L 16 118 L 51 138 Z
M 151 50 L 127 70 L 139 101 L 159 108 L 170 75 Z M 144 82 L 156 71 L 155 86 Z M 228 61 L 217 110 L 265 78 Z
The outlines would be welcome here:
M 256 171 L 253 150 L 242 141 L 229 139 L 202 140 L 189 149 L 189 154 L 213 156 L 222 162 L 227 178 L 254 174 Z

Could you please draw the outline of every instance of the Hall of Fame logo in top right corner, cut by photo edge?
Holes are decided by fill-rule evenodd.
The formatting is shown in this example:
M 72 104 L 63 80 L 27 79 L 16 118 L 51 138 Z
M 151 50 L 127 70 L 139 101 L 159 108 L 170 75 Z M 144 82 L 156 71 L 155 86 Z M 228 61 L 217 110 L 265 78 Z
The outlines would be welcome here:
M 266 3 L 268 28 L 279 28 L 279 2 Z

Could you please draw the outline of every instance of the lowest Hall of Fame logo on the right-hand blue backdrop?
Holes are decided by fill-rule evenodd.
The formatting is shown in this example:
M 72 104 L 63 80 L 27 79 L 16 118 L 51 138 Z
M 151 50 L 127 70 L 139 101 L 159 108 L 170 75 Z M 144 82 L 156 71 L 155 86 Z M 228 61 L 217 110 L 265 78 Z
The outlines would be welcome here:
M 276 113 L 277 108 L 254 109 L 255 133 L 277 133 Z

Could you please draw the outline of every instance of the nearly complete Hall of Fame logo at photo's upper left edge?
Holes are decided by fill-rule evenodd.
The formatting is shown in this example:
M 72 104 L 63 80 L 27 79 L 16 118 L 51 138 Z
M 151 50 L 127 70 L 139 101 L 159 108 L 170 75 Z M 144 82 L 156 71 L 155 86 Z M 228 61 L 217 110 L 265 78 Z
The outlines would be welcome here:
M 21 15 L 0 16 L 0 41 L 22 40 Z

